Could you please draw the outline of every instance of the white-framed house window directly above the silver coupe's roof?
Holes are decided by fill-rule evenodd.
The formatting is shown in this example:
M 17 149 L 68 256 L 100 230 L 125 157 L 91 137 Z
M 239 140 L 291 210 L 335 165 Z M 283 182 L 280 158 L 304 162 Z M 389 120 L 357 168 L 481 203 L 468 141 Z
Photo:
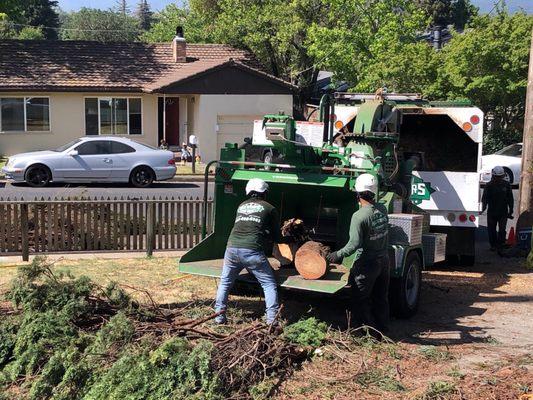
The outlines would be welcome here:
M 140 135 L 140 98 L 88 97 L 85 99 L 86 135 Z

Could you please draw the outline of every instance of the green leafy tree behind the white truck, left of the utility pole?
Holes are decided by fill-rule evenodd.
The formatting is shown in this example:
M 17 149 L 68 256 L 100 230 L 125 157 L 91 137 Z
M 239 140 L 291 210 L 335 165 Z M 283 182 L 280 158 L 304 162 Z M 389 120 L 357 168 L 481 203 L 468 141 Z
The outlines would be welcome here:
M 438 86 L 445 98 L 467 98 L 489 121 L 485 151 L 520 141 L 533 16 L 499 9 L 455 33 L 442 49 Z

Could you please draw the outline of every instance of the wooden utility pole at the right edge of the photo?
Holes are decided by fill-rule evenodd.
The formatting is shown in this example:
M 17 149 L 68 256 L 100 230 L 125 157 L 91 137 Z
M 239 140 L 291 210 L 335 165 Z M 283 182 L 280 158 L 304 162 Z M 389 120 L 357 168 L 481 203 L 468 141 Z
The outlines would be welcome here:
M 522 174 L 520 177 L 517 229 L 531 228 L 533 225 L 533 32 L 531 32 L 529 51 L 526 112 L 522 140 Z

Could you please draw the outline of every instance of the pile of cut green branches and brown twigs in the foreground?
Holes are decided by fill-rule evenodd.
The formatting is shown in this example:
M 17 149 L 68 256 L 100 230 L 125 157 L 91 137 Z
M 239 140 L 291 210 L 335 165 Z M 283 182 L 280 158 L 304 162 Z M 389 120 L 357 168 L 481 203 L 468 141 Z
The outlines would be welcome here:
M 0 399 L 261 398 L 308 354 L 279 327 L 210 327 L 207 307 L 143 293 L 21 268 L 0 309 Z

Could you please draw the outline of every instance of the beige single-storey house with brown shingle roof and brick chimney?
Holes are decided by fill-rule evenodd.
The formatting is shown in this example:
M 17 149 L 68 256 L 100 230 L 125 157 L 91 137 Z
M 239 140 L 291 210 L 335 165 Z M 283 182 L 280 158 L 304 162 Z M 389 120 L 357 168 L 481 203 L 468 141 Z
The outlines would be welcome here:
M 203 160 L 242 143 L 253 120 L 292 113 L 294 87 L 220 44 L 0 41 L 0 155 L 83 135 L 172 148 L 198 138 Z

